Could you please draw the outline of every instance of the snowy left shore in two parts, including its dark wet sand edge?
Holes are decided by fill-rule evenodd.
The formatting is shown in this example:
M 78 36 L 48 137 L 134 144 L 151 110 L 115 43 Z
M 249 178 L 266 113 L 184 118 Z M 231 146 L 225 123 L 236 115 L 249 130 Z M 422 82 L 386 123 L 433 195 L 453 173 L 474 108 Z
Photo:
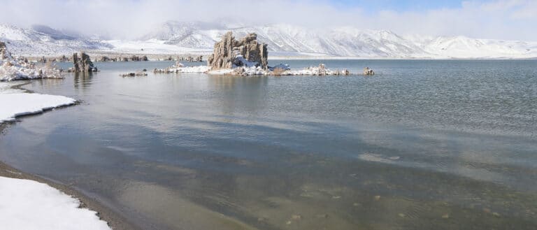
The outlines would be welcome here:
M 0 138 L 17 117 L 72 106 L 66 96 L 29 93 L 27 83 L 0 82 Z M 6 229 L 136 229 L 84 194 L 0 161 L 0 222 Z M 111 228 L 110 228 L 111 227 Z

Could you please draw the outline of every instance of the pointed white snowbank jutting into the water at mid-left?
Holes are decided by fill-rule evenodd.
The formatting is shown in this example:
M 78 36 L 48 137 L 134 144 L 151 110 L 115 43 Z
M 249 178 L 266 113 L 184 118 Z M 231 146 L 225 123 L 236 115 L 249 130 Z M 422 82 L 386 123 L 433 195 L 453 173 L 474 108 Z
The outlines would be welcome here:
M 17 116 L 43 113 L 43 110 L 70 106 L 76 102 L 66 96 L 27 94 L 9 87 L 7 83 L 0 83 L 0 123 L 13 122 Z

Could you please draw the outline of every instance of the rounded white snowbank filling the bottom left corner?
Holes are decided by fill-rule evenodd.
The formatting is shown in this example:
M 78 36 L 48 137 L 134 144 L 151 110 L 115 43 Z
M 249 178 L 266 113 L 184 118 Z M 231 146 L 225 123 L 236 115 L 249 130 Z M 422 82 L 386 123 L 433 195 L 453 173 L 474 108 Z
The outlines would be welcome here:
M 80 201 L 34 180 L 0 177 L 1 229 L 110 230 Z

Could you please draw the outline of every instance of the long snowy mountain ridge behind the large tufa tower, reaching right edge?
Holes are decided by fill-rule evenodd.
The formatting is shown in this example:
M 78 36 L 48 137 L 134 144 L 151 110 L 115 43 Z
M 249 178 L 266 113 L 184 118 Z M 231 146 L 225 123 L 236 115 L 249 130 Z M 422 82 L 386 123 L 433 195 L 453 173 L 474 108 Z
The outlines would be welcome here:
M 352 27 L 307 29 L 289 24 L 259 27 L 226 27 L 201 22 L 166 22 L 145 39 L 185 48 L 210 50 L 227 31 L 236 37 L 256 33 L 277 55 L 319 55 L 370 58 L 533 58 L 537 42 L 499 41 L 464 36 L 400 36 L 386 30 Z

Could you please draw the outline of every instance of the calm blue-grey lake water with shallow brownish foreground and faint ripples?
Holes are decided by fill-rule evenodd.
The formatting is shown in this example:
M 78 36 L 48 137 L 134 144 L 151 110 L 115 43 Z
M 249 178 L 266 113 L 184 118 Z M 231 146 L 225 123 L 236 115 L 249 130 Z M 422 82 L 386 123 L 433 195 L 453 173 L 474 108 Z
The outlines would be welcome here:
M 0 160 L 143 229 L 537 229 L 537 61 L 275 61 L 377 75 L 122 78 L 25 88 Z

